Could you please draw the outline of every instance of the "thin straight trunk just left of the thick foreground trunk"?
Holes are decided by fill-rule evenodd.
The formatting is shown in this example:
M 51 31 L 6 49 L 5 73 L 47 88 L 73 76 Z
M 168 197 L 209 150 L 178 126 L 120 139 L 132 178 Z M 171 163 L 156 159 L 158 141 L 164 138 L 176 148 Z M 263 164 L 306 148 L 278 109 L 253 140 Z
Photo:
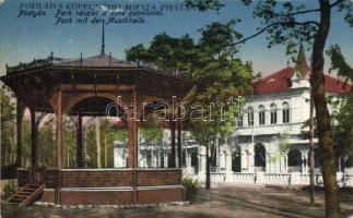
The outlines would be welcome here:
M 313 100 L 313 89 L 310 89 L 310 125 L 309 125 L 309 141 L 310 141 L 310 152 L 309 152 L 309 172 L 310 172 L 310 203 L 315 203 L 315 158 L 314 158 L 314 100 Z

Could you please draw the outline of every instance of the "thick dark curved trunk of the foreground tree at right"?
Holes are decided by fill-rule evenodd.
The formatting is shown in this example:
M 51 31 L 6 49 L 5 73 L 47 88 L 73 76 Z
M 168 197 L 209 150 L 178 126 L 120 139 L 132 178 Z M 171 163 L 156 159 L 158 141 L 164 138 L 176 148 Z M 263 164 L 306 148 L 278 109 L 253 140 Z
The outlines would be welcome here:
M 330 27 L 330 2 L 320 2 L 320 26 L 315 36 L 311 61 L 311 87 L 316 109 L 319 155 L 322 162 L 322 178 L 325 185 L 326 217 L 339 217 L 340 202 L 338 196 L 337 175 L 332 146 L 331 118 L 325 96 L 323 49 Z

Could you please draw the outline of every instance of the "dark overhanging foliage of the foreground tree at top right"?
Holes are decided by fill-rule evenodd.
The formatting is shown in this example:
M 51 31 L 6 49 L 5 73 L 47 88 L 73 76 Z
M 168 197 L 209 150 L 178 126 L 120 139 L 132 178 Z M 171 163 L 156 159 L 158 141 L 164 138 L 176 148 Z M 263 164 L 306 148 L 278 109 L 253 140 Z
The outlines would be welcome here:
M 268 47 L 278 44 L 286 45 L 286 55 L 296 53 L 298 44 L 305 43 L 313 45 L 315 35 L 319 31 L 319 22 L 316 19 L 307 19 L 307 14 L 317 13 L 319 8 L 307 9 L 306 5 L 291 1 L 239 1 L 244 5 L 252 7 L 252 16 L 261 22 L 254 35 L 243 37 L 233 44 L 243 44 L 248 39 L 266 33 L 269 41 Z M 189 8 L 200 11 L 215 10 L 221 11 L 224 3 L 220 0 L 185 0 Z M 344 13 L 344 20 L 353 26 L 353 5 L 349 0 L 338 0 L 331 4 L 331 8 Z M 314 16 L 318 17 L 318 16 Z

